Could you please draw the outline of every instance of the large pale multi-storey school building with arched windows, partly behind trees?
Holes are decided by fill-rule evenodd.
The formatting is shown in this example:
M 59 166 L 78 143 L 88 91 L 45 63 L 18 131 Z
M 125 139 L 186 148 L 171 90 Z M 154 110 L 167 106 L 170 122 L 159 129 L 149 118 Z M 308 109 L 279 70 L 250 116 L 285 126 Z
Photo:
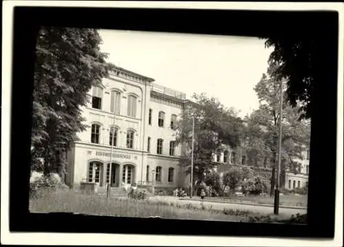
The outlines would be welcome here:
M 89 103 L 82 109 L 88 128 L 78 133 L 80 140 L 67 154 L 65 182 L 69 186 L 189 186 L 190 178 L 179 166 L 182 150 L 175 145 L 175 125 L 191 102 L 185 94 L 153 82 L 152 78 L 116 67 L 101 85 L 92 87 Z M 246 165 L 249 160 L 242 154 L 241 148 L 227 147 L 222 154 L 214 155 L 214 161 L 222 164 L 217 166 L 222 167 L 219 171 L 228 167 L 224 164 Z M 268 168 L 260 172 L 270 175 Z M 289 182 L 292 186 L 305 184 L 308 177 L 301 180 L 293 176 L 288 173 L 286 178 L 297 181 Z M 286 188 L 292 187 L 286 184 Z

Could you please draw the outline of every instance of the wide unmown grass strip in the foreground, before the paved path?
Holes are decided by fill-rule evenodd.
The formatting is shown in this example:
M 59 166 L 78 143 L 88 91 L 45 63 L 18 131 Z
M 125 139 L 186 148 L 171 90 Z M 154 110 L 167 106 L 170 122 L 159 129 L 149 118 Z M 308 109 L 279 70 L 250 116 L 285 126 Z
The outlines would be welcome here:
M 86 195 L 85 193 L 68 189 L 42 191 L 41 197 L 31 199 L 29 205 L 32 213 L 72 212 L 88 215 L 124 217 L 159 216 L 166 219 L 198 219 L 230 222 L 248 222 L 250 217 L 260 215 L 244 211 L 216 211 L 205 206 L 203 208 L 197 208 L 191 204 L 181 206 L 168 202 L 132 200 L 127 197 L 107 199 L 106 197 Z M 285 216 L 279 217 L 279 219 L 282 218 L 285 218 Z

